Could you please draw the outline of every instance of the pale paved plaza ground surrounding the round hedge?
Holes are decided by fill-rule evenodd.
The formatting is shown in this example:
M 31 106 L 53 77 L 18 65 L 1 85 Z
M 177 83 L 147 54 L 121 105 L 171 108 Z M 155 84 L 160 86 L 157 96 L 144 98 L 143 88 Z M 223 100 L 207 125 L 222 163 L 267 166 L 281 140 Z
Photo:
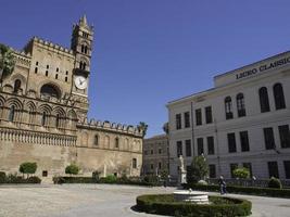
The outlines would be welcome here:
M 175 188 L 115 184 L 1 186 L 1 217 L 155 216 L 131 209 L 136 196 L 171 193 Z M 253 203 L 252 216 L 290 216 L 290 200 L 229 194 Z

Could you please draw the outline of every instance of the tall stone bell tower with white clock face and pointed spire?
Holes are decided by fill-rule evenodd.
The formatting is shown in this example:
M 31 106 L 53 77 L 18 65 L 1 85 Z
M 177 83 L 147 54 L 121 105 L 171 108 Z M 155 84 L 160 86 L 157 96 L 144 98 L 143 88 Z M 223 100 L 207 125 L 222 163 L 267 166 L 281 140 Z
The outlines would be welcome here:
M 90 76 L 90 59 L 92 51 L 93 27 L 87 23 L 84 15 L 78 24 L 73 26 L 71 49 L 75 53 L 75 65 L 73 72 L 72 97 L 80 107 L 79 116 L 88 111 L 88 86 Z

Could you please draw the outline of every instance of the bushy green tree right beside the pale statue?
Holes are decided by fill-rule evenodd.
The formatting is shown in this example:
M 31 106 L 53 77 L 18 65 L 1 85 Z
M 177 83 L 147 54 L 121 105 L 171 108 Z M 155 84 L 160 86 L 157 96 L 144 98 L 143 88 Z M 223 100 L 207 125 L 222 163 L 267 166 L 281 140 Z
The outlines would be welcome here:
M 203 180 L 209 176 L 209 165 L 206 158 L 201 156 L 194 156 L 190 165 L 189 170 L 187 171 L 187 182 L 197 183 L 200 180 Z

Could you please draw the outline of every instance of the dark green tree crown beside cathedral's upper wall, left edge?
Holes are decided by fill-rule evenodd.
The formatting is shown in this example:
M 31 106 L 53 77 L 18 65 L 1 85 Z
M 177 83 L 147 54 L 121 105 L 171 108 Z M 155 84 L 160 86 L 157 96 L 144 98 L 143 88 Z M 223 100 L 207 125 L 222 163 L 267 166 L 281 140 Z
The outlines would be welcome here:
M 10 75 L 15 66 L 15 60 L 13 55 L 13 51 L 0 43 L 0 81 L 2 84 L 2 79 Z

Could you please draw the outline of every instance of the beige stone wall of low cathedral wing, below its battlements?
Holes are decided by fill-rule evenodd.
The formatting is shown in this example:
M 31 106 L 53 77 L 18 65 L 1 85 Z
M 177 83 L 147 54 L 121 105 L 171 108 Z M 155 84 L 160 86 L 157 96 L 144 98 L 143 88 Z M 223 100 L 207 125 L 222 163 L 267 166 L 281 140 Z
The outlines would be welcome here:
M 99 170 L 102 176 L 124 173 L 127 176 L 140 175 L 142 165 L 140 138 L 97 127 L 78 127 L 77 146 L 77 163 L 84 174 Z M 133 158 L 137 161 L 136 168 L 133 166 Z

